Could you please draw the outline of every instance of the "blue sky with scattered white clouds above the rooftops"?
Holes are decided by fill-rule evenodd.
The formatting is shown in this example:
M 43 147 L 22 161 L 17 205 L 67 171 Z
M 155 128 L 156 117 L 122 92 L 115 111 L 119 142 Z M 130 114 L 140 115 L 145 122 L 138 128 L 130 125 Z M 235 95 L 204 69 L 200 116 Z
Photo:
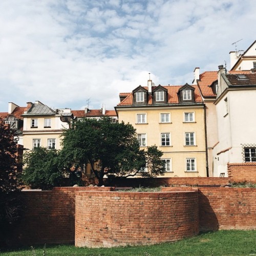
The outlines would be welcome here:
M 255 24 L 255 0 L 1 0 L 0 112 L 36 100 L 114 110 L 149 76 L 191 84 L 196 67 L 229 69 Z

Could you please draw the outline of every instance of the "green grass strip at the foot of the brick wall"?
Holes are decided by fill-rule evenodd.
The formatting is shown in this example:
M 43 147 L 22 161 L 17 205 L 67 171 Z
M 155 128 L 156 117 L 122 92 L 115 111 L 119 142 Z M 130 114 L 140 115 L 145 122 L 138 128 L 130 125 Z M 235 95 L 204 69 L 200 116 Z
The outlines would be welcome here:
M 256 230 L 220 230 L 177 242 L 148 246 L 78 248 L 73 245 L 46 245 L 2 251 L 2 256 L 91 255 L 256 255 Z

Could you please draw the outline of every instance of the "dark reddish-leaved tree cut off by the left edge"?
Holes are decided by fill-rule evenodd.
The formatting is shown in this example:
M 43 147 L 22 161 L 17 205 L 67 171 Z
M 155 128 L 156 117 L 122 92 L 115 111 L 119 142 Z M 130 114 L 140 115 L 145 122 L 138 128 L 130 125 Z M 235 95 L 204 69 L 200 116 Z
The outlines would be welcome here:
M 5 240 L 22 212 L 19 183 L 17 180 L 17 144 L 13 134 L 0 121 L 0 241 Z

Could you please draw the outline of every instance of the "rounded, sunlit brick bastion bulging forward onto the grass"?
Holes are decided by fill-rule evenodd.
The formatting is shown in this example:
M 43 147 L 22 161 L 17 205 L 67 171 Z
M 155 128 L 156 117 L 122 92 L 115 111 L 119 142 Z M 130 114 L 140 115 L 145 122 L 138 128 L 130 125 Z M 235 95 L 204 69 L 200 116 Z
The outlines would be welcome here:
M 156 244 L 199 232 L 197 191 L 76 191 L 75 245 Z

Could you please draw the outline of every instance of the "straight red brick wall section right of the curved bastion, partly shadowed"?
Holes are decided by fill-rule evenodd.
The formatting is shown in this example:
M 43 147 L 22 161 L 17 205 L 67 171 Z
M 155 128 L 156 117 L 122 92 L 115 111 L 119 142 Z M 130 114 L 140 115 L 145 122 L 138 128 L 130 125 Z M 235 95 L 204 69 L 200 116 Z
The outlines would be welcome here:
M 256 229 L 256 188 L 199 188 L 201 230 Z

